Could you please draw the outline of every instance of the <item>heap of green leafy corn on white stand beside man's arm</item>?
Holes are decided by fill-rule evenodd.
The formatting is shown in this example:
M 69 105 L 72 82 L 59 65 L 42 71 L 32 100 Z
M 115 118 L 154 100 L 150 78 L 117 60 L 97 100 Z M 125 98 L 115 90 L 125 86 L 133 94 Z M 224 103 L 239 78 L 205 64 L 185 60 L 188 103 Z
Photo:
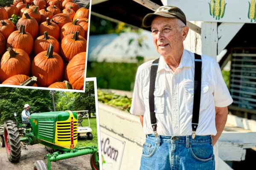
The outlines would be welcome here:
M 103 102 L 107 105 L 111 105 L 113 107 L 119 108 L 123 111 L 130 112 L 131 108 L 131 98 L 127 96 L 119 96 L 113 93 L 107 93 L 98 90 L 98 101 Z

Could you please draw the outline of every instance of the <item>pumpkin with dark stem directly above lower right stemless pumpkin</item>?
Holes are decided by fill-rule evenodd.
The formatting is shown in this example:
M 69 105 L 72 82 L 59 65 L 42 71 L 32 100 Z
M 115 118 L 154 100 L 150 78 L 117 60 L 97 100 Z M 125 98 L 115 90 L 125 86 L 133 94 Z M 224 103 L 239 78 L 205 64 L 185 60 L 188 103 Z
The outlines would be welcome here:
M 75 34 L 68 34 L 61 41 L 61 56 L 64 60 L 69 61 L 76 54 L 86 52 L 87 41 L 79 35 L 76 31 Z

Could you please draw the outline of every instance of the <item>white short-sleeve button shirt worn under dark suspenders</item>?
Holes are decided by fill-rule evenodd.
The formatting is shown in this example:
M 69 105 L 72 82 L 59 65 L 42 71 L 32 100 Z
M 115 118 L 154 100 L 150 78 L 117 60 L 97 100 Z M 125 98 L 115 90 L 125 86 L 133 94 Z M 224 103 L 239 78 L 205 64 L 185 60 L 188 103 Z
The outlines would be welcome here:
M 225 107 L 233 102 L 215 59 L 201 55 L 201 102 L 196 135 L 216 135 L 215 106 Z M 157 134 L 164 136 L 192 135 L 195 55 L 184 50 L 179 67 L 172 71 L 161 56 L 154 90 Z M 148 103 L 152 61 L 140 65 L 134 85 L 130 112 L 144 115 L 143 131 L 154 134 Z

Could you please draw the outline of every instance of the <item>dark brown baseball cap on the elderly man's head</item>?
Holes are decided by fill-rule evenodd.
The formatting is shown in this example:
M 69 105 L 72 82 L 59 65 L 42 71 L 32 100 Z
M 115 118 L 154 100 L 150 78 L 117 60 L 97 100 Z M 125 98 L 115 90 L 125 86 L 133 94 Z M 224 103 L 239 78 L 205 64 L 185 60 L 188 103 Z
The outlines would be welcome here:
M 175 6 L 160 6 L 154 13 L 149 13 L 143 18 L 143 26 L 150 27 L 152 20 L 156 16 L 166 18 L 178 18 L 186 25 L 186 16 L 180 8 Z

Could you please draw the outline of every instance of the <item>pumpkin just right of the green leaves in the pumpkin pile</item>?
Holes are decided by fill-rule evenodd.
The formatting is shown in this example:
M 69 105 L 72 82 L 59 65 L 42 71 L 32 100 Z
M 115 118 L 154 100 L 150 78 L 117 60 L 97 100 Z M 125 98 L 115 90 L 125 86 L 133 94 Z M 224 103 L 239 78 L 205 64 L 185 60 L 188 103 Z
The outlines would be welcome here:
M 31 34 L 33 39 L 35 40 L 36 37 L 38 37 L 38 30 L 39 30 L 38 23 L 35 20 L 35 18 L 30 17 L 28 13 L 25 12 L 23 15 L 25 15 L 25 18 L 20 18 L 18 20 L 17 28 L 19 30 L 20 26 L 24 25 L 25 31 L 29 32 L 29 34 Z

